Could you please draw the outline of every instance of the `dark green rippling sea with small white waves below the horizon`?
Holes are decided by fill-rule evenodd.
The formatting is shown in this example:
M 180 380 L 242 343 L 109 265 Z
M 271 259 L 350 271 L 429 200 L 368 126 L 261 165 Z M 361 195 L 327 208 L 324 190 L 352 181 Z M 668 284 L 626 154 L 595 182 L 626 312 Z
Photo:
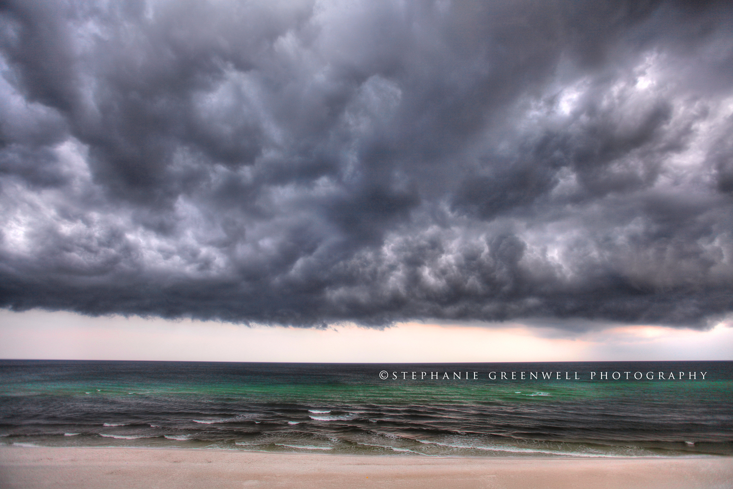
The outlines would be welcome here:
M 462 457 L 733 455 L 732 394 L 730 361 L 4 360 L 0 443 Z

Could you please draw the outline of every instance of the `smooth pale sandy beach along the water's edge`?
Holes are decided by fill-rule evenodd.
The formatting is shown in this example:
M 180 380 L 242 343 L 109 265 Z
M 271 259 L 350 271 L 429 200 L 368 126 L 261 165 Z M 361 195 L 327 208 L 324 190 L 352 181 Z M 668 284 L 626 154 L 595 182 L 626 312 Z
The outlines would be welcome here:
M 0 447 L 2 488 L 729 489 L 733 458 L 427 458 Z

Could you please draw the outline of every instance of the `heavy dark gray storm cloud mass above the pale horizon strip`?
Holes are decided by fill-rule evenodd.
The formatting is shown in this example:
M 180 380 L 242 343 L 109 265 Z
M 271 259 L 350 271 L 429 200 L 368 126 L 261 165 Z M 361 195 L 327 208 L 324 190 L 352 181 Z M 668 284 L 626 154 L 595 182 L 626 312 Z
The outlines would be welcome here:
M 733 312 L 728 2 L 0 8 L 1 306 Z

